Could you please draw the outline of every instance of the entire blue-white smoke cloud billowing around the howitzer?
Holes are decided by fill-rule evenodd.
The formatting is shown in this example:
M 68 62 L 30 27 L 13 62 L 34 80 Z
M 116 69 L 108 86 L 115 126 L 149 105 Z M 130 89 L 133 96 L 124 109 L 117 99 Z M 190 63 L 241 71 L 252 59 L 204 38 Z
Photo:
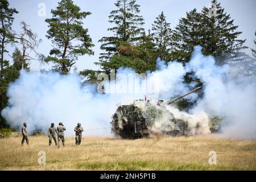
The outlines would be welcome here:
M 234 69 L 230 69 L 229 65 L 217 66 L 212 56 L 201 53 L 200 47 L 195 47 L 191 61 L 185 67 L 175 61 L 168 65 L 158 61 L 158 67 L 157 71 L 147 75 L 146 80 L 136 76 L 131 69 L 119 69 L 115 87 L 113 83 L 105 82 L 109 94 L 97 93 L 96 85 L 82 85 L 76 74 L 23 71 L 18 80 L 10 84 L 9 106 L 1 114 L 12 127 L 20 128 L 23 122 L 27 122 L 30 132 L 35 129 L 46 131 L 50 123 L 57 125 L 61 121 L 71 136 L 77 122 L 81 122 L 85 130 L 110 127 L 117 104 L 131 104 L 134 99 L 143 99 L 145 95 L 153 100 L 168 100 L 188 92 L 183 77 L 186 72 L 193 71 L 204 84 L 203 99 L 197 101 L 189 113 L 171 106 L 167 109 L 177 118 L 182 115 L 190 117 L 192 128 L 200 123 L 201 131 L 192 130 L 193 134 L 209 133 L 209 117 L 218 116 L 224 118 L 224 136 L 256 138 L 255 80 L 245 77 L 238 80 L 234 76 L 237 73 L 232 72 Z M 186 98 L 195 100 L 197 94 Z M 85 134 L 109 136 L 110 131 L 109 128 Z

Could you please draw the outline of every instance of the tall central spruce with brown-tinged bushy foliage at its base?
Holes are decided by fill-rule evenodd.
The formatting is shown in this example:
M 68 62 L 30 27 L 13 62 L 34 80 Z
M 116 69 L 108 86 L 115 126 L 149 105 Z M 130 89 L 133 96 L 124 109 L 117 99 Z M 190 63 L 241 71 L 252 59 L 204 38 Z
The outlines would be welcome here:
M 156 53 L 150 35 L 141 27 L 142 16 L 138 15 L 139 5 L 135 0 L 118 0 L 117 10 L 110 12 L 109 22 L 115 26 L 108 28 L 114 36 L 104 37 L 99 42 L 104 53 L 100 55 L 101 68 L 108 73 L 109 69 L 133 68 L 138 73 L 154 71 Z

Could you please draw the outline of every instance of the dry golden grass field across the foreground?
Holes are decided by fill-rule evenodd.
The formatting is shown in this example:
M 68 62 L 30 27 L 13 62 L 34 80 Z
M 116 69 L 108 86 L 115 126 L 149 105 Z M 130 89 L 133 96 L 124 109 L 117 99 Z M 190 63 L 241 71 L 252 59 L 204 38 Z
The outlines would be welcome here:
M 48 146 L 47 137 L 0 139 L 1 170 L 256 170 L 256 141 L 220 139 L 214 135 L 122 140 L 83 138 L 81 146 L 68 138 L 66 147 Z M 38 164 L 38 152 L 46 164 Z M 217 152 L 210 165 L 209 151 Z

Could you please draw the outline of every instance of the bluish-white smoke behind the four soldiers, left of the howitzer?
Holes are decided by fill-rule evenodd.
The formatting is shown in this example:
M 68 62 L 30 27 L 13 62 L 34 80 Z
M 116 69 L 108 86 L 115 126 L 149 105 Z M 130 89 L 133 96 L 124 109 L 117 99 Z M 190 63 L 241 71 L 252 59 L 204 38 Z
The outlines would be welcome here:
M 12 127 L 27 122 L 28 131 L 47 131 L 50 123 L 63 122 L 67 134 L 72 135 L 77 122 L 84 130 L 109 127 L 115 111 L 115 101 L 108 95 L 94 94 L 90 85 L 82 86 L 77 75 L 34 73 L 23 71 L 8 90 L 9 105 L 2 111 Z M 97 130 L 91 135 L 110 135 Z

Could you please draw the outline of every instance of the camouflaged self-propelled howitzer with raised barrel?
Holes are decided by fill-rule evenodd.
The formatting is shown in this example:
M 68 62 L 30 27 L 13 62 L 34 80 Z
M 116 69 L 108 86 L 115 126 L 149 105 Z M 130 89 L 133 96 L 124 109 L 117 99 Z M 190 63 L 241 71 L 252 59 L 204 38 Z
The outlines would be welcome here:
M 112 132 L 122 138 L 130 139 L 148 137 L 150 133 L 163 133 L 174 136 L 186 135 L 187 121 L 176 119 L 174 114 L 166 109 L 165 105 L 170 105 L 201 88 L 199 86 L 167 102 L 158 101 L 155 105 L 144 100 L 134 101 L 130 105 L 121 105 L 112 115 Z M 165 120 L 163 121 L 163 119 Z M 163 122 L 165 126 L 158 128 L 159 123 L 156 126 L 156 122 Z M 162 126 L 163 123 L 160 123 L 160 125 Z

